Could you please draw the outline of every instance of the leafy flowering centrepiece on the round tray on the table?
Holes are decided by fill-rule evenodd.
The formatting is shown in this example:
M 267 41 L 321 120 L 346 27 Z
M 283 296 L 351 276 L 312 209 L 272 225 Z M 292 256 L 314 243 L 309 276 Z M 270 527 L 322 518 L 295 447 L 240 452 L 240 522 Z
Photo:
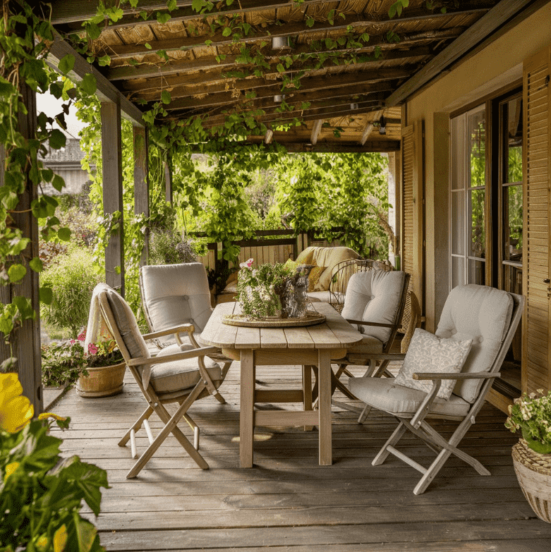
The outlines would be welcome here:
M 262 264 L 253 269 L 253 259 L 239 266 L 237 300 L 241 303 L 241 312 L 251 318 L 275 316 L 281 309 L 278 295 L 283 293 L 294 269 L 281 263 Z

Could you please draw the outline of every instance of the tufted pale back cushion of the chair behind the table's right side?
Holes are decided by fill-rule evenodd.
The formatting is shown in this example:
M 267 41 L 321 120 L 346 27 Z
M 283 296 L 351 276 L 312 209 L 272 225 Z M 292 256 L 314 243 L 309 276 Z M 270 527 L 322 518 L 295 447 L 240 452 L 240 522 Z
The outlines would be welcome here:
M 406 273 L 369 270 L 353 274 L 346 288 L 342 316 L 351 320 L 393 324 L 400 306 Z M 392 329 L 359 326 L 358 331 L 387 343 Z

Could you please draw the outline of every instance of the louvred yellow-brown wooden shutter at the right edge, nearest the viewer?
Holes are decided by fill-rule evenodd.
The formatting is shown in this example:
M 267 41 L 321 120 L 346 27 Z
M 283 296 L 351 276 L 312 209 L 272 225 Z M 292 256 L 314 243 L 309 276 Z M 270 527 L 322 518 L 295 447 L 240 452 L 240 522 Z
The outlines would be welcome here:
M 550 359 L 550 49 L 526 60 L 524 102 L 524 231 L 522 391 L 551 387 Z

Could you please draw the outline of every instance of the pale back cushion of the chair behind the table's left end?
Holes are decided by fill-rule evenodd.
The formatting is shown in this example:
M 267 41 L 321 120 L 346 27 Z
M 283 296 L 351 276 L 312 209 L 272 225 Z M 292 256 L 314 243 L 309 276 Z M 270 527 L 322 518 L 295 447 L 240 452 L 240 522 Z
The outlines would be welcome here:
M 202 331 L 212 307 L 205 266 L 199 262 L 142 266 L 142 293 L 154 331 L 193 324 Z

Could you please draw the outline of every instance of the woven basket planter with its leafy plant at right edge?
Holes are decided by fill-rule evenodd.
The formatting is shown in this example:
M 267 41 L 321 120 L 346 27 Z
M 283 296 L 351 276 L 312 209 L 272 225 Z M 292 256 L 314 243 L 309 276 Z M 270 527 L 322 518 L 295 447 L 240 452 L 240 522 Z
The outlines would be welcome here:
M 516 477 L 535 515 L 551 523 L 551 391 L 516 398 L 505 427 L 521 430 L 512 453 Z

